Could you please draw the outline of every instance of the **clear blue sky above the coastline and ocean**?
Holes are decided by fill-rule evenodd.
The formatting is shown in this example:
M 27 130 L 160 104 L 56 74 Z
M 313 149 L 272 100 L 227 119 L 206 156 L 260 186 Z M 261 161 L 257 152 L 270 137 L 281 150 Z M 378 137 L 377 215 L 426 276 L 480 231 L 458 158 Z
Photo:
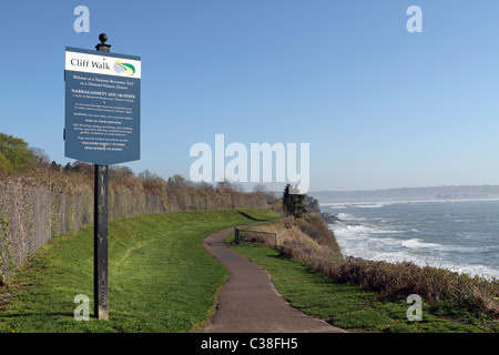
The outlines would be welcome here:
M 309 191 L 499 184 L 497 0 L 2 1 L 0 132 L 73 162 L 64 49 L 101 32 L 142 58 L 138 173 L 189 178 L 191 146 L 218 133 L 309 143 Z

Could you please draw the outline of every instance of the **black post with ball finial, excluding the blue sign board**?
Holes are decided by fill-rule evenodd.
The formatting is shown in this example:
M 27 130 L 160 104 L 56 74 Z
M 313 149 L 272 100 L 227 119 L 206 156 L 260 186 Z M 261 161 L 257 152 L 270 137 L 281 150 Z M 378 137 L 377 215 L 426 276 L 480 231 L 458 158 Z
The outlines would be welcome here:
M 109 52 L 111 45 L 104 44 L 108 36 L 99 36 L 98 51 Z M 93 300 L 94 316 L 109 320 L 108 297 L 108 165 L 94 165 L 94 229 L 93 229 Z

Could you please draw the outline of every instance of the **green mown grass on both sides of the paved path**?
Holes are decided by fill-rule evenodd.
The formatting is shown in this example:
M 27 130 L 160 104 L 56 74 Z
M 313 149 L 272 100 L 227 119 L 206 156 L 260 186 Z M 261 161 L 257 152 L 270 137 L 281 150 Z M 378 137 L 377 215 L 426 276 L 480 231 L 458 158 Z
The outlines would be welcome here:
M 190 333 L 213 314 L 227 271 L 202 247 L 225 227 L 272 220 L 268 210 L 200 211 L 143 215 L 110 222 L 110 321 L 77 322 L 74 297 L 85 294 L 93 315 L 93 227 L 53 239 L 0 288 L 2 333 Z M 278 251 L 248 245 L 234 250 L 272 275 L 298 310 L 350 332 L 498 332 L 497 322 L 456 322 L 424 303 L 422 322 L 409 322 L 409 305 L 375 292 L 333 283 Z

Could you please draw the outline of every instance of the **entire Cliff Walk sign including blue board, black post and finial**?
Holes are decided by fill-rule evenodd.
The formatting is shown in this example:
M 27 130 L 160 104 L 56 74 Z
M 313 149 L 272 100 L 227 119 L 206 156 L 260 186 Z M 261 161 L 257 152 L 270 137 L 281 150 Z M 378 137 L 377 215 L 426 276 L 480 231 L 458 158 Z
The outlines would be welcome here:
M 65 49 L 65 156 L 94 164 L 94 315 L 109 320 L 109 165 L 140 159 L 140 57 Z

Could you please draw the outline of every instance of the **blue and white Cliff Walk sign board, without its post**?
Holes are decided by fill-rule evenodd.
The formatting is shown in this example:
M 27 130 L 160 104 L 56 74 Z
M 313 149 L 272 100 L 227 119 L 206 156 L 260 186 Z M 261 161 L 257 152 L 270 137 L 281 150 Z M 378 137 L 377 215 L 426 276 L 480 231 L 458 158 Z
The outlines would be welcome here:
M 112 165 L 140 159 L 140 57 L 65 49 L 67 158 Z

